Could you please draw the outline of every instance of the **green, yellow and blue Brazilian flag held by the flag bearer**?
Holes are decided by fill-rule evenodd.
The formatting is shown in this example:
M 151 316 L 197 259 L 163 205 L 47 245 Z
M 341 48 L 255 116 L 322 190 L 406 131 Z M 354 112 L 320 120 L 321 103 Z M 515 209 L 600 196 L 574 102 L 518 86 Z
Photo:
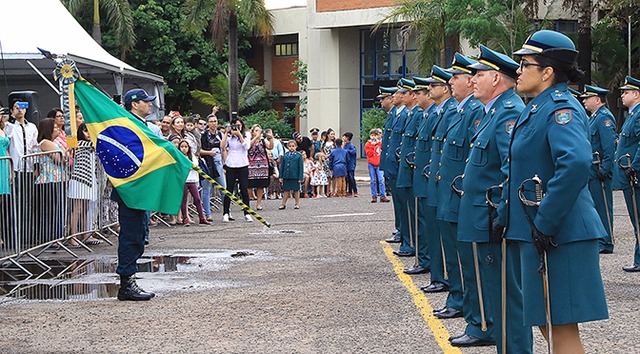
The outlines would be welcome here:
M 85 80 L 74 86 L 98 158 L 124 203 L 177 214 L 191 161 Z

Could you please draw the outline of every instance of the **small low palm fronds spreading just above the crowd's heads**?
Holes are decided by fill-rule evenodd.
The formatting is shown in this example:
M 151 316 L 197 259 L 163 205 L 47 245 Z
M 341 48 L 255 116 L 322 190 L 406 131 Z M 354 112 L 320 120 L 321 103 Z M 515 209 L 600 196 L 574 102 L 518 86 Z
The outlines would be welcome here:
M 251 70 L 242 80 L 240 92 L 238 93 L 238 109 L 243 111 L 260 102 L 267 95 L 267 89 L 264 86 L 258 86 L 258 74 Z M 229 77 L 226 74 L 220 74 L 211 79 L 209 83 L 211 92 L 200 90 L 191 91 L 191 96 L 197 101 L 209 105 L 218 106 L 221 110 L 229 112 Z

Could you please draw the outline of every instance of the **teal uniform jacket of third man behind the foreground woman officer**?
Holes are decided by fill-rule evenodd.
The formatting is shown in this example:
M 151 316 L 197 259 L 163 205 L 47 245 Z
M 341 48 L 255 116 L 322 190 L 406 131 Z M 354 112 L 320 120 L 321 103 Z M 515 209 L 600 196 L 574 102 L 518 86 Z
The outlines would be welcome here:
M 435 114 L 435 120 L 431 129 L 431 158 L 429 159 L 429 181 L 427 183 L 427 206 L 438 206 L 438 188 L 440 185 L 440 157 L 442 156 L 442 148 L 444 146 L 444 137 L 449 128 L 449 122 L 458 114 L 456 107 L 458 101 L 449 97 L 442 103 L 442 111 Z M 449 188 L 449 186 L 446 186 Z

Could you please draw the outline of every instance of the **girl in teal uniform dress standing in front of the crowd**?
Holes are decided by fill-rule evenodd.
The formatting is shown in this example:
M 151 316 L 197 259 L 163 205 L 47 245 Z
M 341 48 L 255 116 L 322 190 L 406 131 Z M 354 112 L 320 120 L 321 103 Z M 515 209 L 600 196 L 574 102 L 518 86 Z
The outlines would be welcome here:
M 282 182 L 282 205 L 278 209 L 282 210 L 287 207 L 287 199 L 293 191 L 296 199 L 294 209 L 300 209 L 300 183 L 304 177 L 304 162 L 302 155 L 296 151 L 298 144 L 295 140 L 289 140 L 287 143 L 288 151 L 280 160 L 280 181 Z

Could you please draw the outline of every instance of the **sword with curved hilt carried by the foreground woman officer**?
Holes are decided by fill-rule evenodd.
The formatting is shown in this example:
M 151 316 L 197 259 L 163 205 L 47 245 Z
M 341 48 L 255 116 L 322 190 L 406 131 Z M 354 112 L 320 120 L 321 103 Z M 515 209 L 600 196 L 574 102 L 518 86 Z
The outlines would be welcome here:
M 534 201 L 527 199 L 527 197 L 524 194 L 525 185 L 526 183 L 529 183 L 529 182 L 532 182 L 534 185 L 534 191 L 535 191 Z M 544 197 L 544 193 L 542 192 L 542 179 L 540 179 L 538 175 L 534 175 L 532 178 L 525 179 L 520 184 L 520 187 L 518 187 L 518 198 L 522 203 L 524 214 L 527 218 L 527 221 L 529 221 L 529 225 L 531 226 L 531 229 L 533 230 L 533 232 L 537 232 L 538 230 L 536 226 L 533 224 L 533 220 L 527 213 L 526 207 L 534 207 L 536 209 L 539 208 L 540 202 L 542 201 L 543 197 Z M 545 317 L 547 322 L 547 351 L 550 354 L 553 354 L 553 325 L 551 322 L 551 299 L 549 296 L 549 257 L 548 257 L 547 251 L 544 251 L 542 253 L 542 265 L 540 266 L 539 272 L 540 272 L 540 275 L 542 275 L 542 296 L 544 297 L 544 303 L 545 303 L 544 312 L 545 312 Z

